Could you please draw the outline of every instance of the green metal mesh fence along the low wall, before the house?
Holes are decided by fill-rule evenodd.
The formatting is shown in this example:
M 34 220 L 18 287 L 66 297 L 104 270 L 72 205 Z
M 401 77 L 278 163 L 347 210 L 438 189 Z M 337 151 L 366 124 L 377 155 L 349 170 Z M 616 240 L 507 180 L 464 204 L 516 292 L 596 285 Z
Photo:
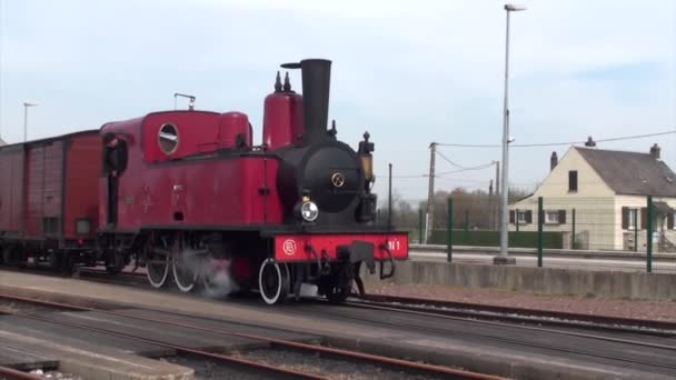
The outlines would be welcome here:
M 458 207 L 458 203 L 460 207 Z M 499 247 L 493 204 L 448 198 L 435 207 L 431 231 L 425 231 L 425 204 L 404 210 L 394 223 L 409 231 L 411 243 L 453 247 Z M 443 210 L 440 210 L 443 209 Z M 640 196 L 608 198 L 528 197 L 510 203 L 509 248 L 640 252 L 676 257 L 676 199 Z M 539 260 L 541 264 L 541 259 Z M 649 266 L 649 264 L 648 264 Z M 648 268 L 649 270 L 649 268 Z

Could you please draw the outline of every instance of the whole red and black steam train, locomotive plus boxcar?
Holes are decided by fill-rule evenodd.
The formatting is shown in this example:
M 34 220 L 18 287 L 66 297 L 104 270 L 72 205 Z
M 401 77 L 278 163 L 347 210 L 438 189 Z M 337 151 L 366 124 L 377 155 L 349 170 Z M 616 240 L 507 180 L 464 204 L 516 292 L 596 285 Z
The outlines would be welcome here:
M 381 279 L 408 257 L 408 236 L 377 226 L 374 142 L 357 150 L 328 128 L 331 62 L 279 72 L 265 99 L 262 143 L 241 112 L 162 111 L 99 130 L 0 148 L 0 260 L 56 268 L 146 268 L 155 288 L 212 289 L 225 271 L 275 304 L 305 283 L 342 302 L 365 266 Z M 125 152 L 115 224 L 101 136 Z

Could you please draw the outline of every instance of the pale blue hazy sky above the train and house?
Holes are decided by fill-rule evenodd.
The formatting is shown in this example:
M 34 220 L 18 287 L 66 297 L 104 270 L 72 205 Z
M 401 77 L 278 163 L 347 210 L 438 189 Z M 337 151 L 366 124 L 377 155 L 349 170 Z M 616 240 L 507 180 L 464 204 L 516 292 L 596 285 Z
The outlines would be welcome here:
M 515 143 L 676 130 L 676 1 L 524 1 L 511 14 Z M 377 190 L 428 171 L 431 141 L 499 144 L 504 2 L 474 1 L 10 1 L 0 0 L 0 136 L 29 139 L 97 129 L 173 108 L 249 114 L 260 142 L 262 100 L 278 64 L 334 61 L 329 117 L 338 137 L 376 142 Z M 292 84 L 300 78 L 291 72 Z M 185 107 L 185 101 L 180 101 Z M 647 152 L 676 168 L 676 134 L 599 143 Z M 510 182 L 534 188 L 567 147 L 513 148 Z M 461 167 L 499 148 L 440 151 Z M 457 170 L 438 158 L 438 171 Z M 446 174 L 437 188 L 488 188 L 495 169 Z M 426 178 L 396 178 L 411 200 Z

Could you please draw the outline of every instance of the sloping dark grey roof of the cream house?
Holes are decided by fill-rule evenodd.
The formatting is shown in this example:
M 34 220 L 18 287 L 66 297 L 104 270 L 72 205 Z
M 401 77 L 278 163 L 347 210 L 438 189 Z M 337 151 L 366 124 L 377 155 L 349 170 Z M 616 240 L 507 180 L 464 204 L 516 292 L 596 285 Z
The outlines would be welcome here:
M 676 197 L 676 173 L 649 153 L 575 149 L 618 194 Z

